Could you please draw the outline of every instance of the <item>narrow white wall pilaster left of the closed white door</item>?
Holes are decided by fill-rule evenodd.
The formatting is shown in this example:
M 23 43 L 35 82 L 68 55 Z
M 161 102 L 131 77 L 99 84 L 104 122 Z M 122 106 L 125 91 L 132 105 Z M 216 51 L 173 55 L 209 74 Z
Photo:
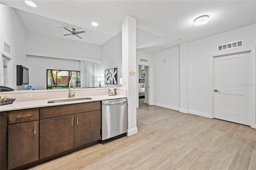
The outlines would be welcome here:
M 188 113 L 188 43 L 180 44 L 180 112 Z

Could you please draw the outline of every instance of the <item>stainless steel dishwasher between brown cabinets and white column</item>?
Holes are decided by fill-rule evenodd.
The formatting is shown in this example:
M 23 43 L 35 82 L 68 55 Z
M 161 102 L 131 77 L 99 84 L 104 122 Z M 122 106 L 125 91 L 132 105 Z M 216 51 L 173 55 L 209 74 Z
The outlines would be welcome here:
M 100 143 L 126 136 L 127 129 L 127 98 L 102 101 Z

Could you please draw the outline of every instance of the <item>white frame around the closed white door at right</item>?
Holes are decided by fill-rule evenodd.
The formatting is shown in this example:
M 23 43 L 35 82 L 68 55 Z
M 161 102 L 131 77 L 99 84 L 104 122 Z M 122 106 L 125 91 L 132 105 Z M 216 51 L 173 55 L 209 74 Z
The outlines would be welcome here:
M 210 56 L 210 88 L 209 88 L 209 94 L 210 94 L 210 112 L 209 112 L 209 118 L 214 118 L 214 58 L 215 57 L 222 57 L 222 56 L 229 56 L 234 54 L 243 54 L 243 53 L 250 53 L 250 56 L 252 57 L 252 113 L 251 114 L 251 122 L 250 126 L 251 128 L 256 129 L 256 47 L 253 48 L 245 48 L 240 51 L 232 51 L 228 53 L 222 53 L 222 54 L 216 54 Z

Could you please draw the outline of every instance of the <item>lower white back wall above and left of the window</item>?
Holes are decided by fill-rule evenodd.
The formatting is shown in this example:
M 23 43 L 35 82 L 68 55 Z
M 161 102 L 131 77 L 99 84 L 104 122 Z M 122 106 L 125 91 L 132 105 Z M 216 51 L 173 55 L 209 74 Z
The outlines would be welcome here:
M 29 85 L 37 90 L 46 89 L 46 69 L 80 71 L 79 60 L 67 60 L 61 58 L 27 56 L 29 69 Z

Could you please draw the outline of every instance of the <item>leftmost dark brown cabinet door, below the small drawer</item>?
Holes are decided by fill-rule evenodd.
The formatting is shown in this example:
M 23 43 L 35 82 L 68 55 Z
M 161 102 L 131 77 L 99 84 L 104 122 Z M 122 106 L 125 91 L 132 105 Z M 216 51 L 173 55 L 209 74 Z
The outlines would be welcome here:
M 38 120 L 8 126 L 8 169 L 38 160 Z

